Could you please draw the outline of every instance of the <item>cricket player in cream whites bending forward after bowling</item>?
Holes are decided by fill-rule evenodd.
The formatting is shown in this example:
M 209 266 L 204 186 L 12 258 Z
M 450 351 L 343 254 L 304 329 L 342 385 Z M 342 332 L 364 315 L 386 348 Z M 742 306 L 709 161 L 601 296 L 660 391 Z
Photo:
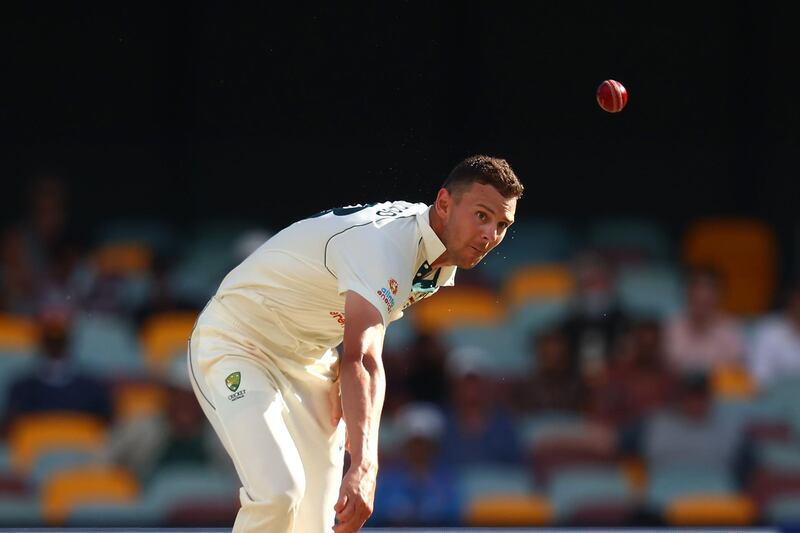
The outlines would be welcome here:
M 319 213 L 225 277 L 197 320 L 188 359 L 242 483 L 234 531 L 362 527 L 378 472 L 386 328 L 503 240 L 522 191 L 505 160 L 469 157 L 431 206 Z

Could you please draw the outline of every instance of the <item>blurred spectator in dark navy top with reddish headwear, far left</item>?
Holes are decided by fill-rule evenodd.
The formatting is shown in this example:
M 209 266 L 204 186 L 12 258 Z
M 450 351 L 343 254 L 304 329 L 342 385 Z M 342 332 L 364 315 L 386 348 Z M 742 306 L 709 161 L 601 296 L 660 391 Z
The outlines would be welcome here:
M 108 386 L 76 368 L 68 350 L 70 314 L 61 308 L 44 309 L 38 317 L 41 331 L 40 362 L 35 371 L 12 382 L 6 403 L 6 422 L 42 411 L 76 411 L 111 420 Z

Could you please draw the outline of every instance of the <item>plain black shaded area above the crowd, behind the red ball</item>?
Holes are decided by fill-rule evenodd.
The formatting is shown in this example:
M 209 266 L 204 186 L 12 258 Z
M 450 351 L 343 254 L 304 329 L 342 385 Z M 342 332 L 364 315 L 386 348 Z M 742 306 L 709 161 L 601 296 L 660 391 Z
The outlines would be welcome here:
M 2 217 L 55 171 L 86 228 L 275 227 L 429 200 L 484 152 L 527 184 L 520 216 L 752 214 L 791 239 L 795 3 L 289 4 L 4 5 Z

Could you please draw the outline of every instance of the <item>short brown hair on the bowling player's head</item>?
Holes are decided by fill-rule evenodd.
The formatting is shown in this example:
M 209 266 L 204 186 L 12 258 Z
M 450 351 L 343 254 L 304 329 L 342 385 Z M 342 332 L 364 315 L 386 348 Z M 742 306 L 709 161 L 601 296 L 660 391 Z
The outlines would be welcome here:
M 450 194 L 458 194 L 472 183 L 491 185 L 504 198 L 520 198 L 524 187 L 505 159 L 488 155 L 466 158 L 447 176 L 444 187 Z

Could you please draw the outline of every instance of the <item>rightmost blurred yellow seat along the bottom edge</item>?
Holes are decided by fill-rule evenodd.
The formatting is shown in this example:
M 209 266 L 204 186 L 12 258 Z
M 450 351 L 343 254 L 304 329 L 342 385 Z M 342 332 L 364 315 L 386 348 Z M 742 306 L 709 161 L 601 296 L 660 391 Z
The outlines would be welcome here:
M 667 522 L 674 526 L 749 526 L 758 518 L 755 503 L 745 496 L 686 496 L 666 508 Z

